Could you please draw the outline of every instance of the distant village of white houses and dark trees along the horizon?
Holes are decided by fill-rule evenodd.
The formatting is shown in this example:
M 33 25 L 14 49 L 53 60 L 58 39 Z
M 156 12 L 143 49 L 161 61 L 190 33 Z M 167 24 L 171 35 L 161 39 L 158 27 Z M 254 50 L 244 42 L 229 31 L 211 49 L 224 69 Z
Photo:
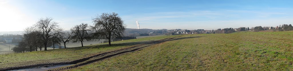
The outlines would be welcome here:
M 271 32 L 275 31 L 289 31 L 293 30 L 292 25 L 279 25 L 276 27 L 262 27 L 262 26 L 256 26 L 256 27 L 239 27 L 239 28 L 224 28 L 224 29 L 217 29 L 217 30 L 182 30 L 182 29 L 173 29 L 173 30 L 157 30 L 154 32 L 148 32 L 147 34 L 144 34 L 144 36 L 149 35 L 160 35 L 160 34 L 172 34 L 172 35 L 180 35 L 180 34 L 222 34 L 222 33 L 232 33 L 232 32 L 239 32 L 239 31 L 251 31 L 251 32 L 258 32 L 258 31 L 264 31 L 268 30 Z M 158 33 L 160 31 L 160 33 Z

